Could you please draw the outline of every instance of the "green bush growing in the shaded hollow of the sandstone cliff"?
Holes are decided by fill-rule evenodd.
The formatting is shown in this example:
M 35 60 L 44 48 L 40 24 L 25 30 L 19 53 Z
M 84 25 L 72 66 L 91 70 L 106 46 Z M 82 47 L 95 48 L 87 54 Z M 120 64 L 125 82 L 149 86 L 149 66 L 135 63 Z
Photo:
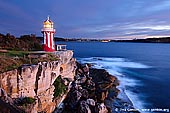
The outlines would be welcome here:
M 61 94 L 66 92 L 66 86 L 61 82 L 61 76 L 56 78 L 53 83 L 55 90 L 54 90 L 54 98 L 60 96 Z

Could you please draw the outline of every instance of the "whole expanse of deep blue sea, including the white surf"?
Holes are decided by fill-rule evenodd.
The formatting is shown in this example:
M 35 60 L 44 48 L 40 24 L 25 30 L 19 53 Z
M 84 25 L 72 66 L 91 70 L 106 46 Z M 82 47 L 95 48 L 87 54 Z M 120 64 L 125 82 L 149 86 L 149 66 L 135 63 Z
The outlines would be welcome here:
M 115 74 L 135 107 L 170 109 L 170 44 L 57 42 Z M 100 58 L 100 60 L 98 60 Z

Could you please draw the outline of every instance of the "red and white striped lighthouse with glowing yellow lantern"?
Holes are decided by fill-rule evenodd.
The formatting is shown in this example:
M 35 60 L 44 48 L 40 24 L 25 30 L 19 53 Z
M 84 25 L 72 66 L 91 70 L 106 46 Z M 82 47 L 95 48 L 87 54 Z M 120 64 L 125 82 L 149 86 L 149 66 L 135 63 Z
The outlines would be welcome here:
M 50 20 L 50 17 L 48 17 L 43 24 L 44 27 L 41 30 L 44 37 L 43 50 L 47 52 L 53 52 L 55 51 L 55 43 L 54 43 L 55 29 L 53 27 L 53 22 Z

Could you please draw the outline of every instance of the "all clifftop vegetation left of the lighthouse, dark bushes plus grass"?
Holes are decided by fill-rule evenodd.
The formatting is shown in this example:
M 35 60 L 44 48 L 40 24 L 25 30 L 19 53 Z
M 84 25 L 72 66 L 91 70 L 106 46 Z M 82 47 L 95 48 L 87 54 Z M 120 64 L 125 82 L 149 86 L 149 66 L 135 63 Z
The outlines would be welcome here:
M 0 34 L 0 73 L 16 69 L 23 64 L 56 61 L 59 58 L 51 53 L 35 53 L 42 50 L 41 40 L 35 35 L 15 38 L 7 33 Z M 45 57 L 41 57 L 41 56 Z

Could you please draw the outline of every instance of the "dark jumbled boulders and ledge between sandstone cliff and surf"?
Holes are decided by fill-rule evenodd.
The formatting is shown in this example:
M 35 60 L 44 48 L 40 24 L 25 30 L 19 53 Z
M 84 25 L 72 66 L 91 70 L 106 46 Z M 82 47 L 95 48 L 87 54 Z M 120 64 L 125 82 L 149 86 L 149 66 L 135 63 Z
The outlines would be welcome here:
M 63 101 L 62 113 L 121 113 L 118 109 L 133 108 L 118 99 L 119 81 L 104 69 L 89 68 L 77 63 L 71 89 Z M 55 112 L 56 113 L 56 112 Z

